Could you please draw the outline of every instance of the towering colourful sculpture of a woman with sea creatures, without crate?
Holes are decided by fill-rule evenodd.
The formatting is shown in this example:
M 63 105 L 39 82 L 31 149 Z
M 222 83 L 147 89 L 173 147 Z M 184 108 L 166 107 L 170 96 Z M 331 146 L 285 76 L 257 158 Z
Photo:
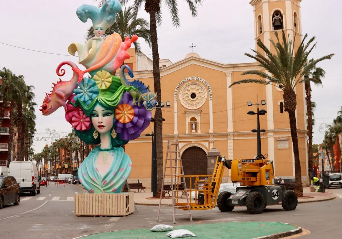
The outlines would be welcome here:
M 71 61 L 61 62 L 56 69 L 58 76 L 65 74 L 64 65 L 73 70 L 69 81 L 57 80 L 46 93 L 40 111 L 50 115 L 59 107 L 65 109 L 65 119 L 74 127 L 76 135 L 87 144 L 96 146 L 78 169 L 80 183 L 89 193 L 120 193 L 132 169 L 132 161 L 121 145 L 140 136 L 149 125 L 151 110 L 156 106 L 157 95 L 141 81 L 130 81 L 124 70 L 133 78 L 127 65 L 127 49 L 135 42 L 136 35 L 122 42 L 118 33 L 103 37 L 106 29 L 115 23 L 121 11 L 117 0 L 107 0 L 97 8 L 80 6 L 76 14 L 86 23 L 93 23 L 95 37 L 84 44 L 72 43 L 68 52 L 79 56 L 81 70 Z M 112 75 L 120 68 L 120 77 Z M 90 77 L 84 77 L 89 73 Z

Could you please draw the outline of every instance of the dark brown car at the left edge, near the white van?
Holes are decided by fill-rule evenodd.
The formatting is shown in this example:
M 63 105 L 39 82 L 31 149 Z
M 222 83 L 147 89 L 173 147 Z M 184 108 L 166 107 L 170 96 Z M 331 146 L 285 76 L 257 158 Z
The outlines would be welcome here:
M 3 205 L 14 203 L 19 205 L 20 186 L 12 176 L 0 176 L 0 209 Z

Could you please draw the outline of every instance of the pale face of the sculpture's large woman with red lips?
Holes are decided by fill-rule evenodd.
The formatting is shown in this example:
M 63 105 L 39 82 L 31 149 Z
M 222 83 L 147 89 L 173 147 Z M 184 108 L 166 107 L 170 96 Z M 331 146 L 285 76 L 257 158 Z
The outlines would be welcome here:
M 113 128 L 114 114 L 110 109 L 105 109 L 97 104 L 91 112 L 91 122 L 99 133 L 106 133 Z

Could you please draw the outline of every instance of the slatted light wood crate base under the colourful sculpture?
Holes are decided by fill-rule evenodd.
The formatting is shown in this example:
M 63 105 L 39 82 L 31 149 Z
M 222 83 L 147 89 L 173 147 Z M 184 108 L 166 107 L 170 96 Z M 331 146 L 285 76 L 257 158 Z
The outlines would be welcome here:
M 133 192 L 75 193 L 76 216 L 127 216 L 134 211 Z

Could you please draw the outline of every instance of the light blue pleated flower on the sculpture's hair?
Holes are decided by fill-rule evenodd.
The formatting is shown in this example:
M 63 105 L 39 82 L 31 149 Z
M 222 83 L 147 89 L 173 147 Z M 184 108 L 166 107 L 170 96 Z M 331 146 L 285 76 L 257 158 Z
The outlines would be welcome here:
M 74 89 L 74 100 L 80 99 L 84 104 L 89 104 L 98 96 L 98 87 L 95 81 L 90 78 L 84 77 L 81 83 L 77 83 L 79 88 Z

